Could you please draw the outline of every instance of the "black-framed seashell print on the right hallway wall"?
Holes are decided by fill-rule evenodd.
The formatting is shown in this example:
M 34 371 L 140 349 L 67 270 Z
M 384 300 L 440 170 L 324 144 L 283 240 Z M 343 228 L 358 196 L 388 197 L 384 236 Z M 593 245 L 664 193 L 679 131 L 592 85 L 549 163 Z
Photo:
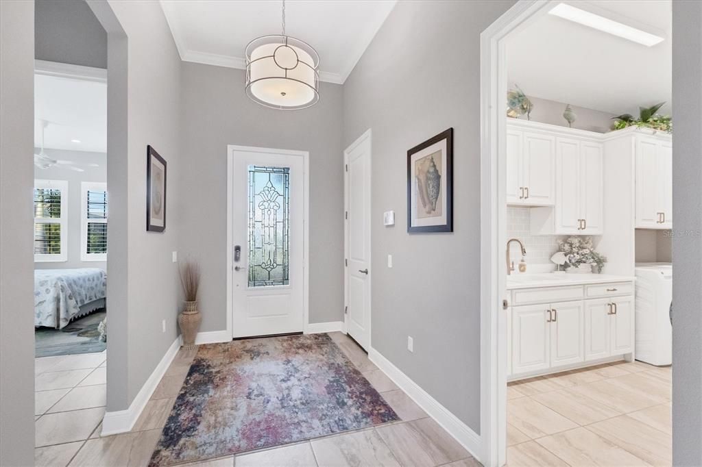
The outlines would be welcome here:
M 453 231 L 453 128 L 407 151 L 407 231 Z

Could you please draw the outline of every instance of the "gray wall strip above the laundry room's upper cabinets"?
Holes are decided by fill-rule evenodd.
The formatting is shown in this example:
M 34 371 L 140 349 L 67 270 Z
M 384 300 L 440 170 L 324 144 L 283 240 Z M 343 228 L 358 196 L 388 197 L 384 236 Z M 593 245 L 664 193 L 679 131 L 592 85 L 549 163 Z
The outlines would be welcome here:
M 566 104 L 555 100 L 541 99 L 540 97 L 529 96 L 529 100 L 534 104 L 534 110 L 531 111 L 531 121 L 541 123 L 550 123 L 557 126 L 568 126 L 568 122 L 563 118 L 563 111 Z M 577 107 L 571 105 L 571 108 L 577 115 L 576 121 L 572 128 L 579 130 L 596 131 L 597 133 L 607 133 L 614 122 L 611 117 L 613 114 L 607 112 L 586 109 L 585 107 Z M 519 117 L 520 120 L 526 120 L 527 116 Z

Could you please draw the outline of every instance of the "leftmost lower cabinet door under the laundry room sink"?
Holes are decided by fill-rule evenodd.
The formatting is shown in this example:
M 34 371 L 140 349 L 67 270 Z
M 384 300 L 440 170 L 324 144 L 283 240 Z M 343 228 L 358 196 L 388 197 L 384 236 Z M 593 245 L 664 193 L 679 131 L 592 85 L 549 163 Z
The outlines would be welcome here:
M 548 305 L 512 307 L 512 375 L 550 367 Z

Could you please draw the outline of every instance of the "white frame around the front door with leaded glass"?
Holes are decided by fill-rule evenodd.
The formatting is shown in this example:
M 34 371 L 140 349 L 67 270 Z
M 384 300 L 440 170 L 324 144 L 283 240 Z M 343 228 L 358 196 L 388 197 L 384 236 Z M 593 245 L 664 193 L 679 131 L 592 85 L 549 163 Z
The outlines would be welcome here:
M 227 337 L 234 339 L 234 154 L 258 152 L 303 158 L 303 332 L 310 327 L 310 152 L 227 144 Z

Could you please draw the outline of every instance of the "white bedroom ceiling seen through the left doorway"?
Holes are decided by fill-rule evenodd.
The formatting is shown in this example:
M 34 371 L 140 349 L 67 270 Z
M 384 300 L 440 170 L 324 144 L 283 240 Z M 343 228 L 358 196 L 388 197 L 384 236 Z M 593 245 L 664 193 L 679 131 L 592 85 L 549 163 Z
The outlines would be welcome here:
M 41 120 L 46 120 L 44 147 L 107 152 L 105 82 L 35 74 L 34 118 L 35 147 L 41 147 Z

